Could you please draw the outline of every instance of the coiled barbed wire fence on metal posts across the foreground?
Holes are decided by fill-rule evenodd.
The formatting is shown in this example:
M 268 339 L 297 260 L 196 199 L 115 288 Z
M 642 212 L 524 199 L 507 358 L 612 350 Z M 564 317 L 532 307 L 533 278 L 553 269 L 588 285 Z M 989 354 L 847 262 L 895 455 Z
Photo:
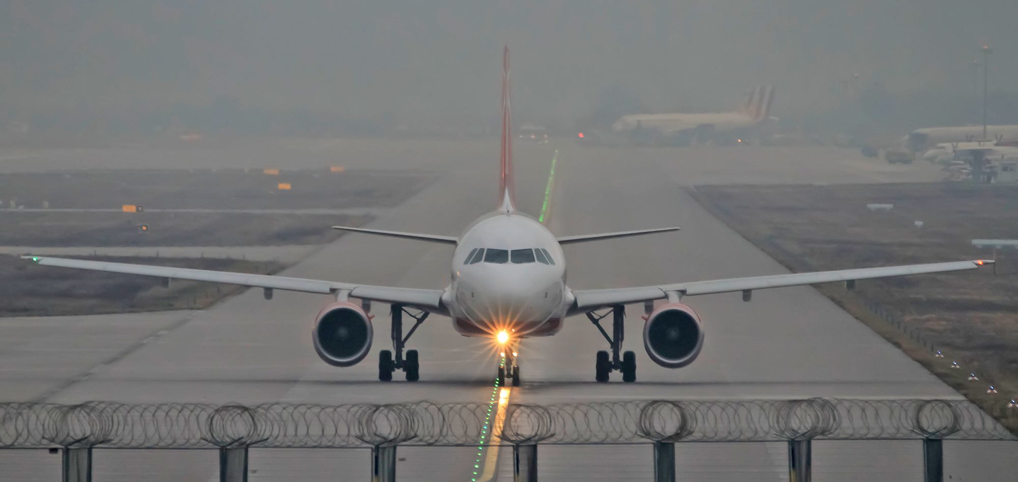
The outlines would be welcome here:
M 397 445 L 466 446 L 489 431 L 488 404 L 389 405 L 0 404 L 0 448 L 62 448 L 64 473 L 91 474 L 93 448 L 211 448 L 221 474 L 245 480 L 248 447 L 372 448 L 373 470 L 395 477 Z M 998 418 L 1018 410 L 995 408 Z M 808 471 L 811 440 L 1018 440 L 967 401 L 632 401 L 505 404 L 480 445 L 511 445 L 536 473 L 538 444 L 654 444 L 656 480 L 674 480 L 676 442 L 788 441 L 790 470 Z M 796 451 L 797 450 L 797 451 Z M 794 454 L 799 454 L 798 459 Z M 805 459 L 803 459 L 805 458 Z M 929 459 L 928 457 L 924 459 Z M 802 465 L 803 460 L 805 464 Z M 664 464 L 659 467 L 659 462 Z M 668 467 L 668 463 L 671 467 Z M 86 470 L 87 469 L 87 470 Z M 670 474 L 670 477 L 669 477 Z M 91 475 L 90 475 L 91 477 Z M 656 476 L 657 477 L 657 476 Z M 380 480 L 390 480 L 389 476 Z M 65 479 L 91 480 L 91 479 Z M 796 479 L 808 480 L 808 479 Z

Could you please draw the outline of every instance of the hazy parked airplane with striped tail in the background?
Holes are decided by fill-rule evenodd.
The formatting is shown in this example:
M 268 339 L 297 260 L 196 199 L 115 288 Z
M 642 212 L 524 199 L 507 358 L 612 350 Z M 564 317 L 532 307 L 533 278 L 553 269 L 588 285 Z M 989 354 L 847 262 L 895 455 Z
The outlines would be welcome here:
M 687 137 L 704 137 L 715 133 L 734 133 L 756 127 L 770 119 L 774 103 L 774 86 L 758 86 L 749 94 L 742 109 L 736 112 L 706 114 L 632 114 L 622 116 L 612 130 L 631 133 L 638 129 L 656 131 L 665 137 L 685 134 Z

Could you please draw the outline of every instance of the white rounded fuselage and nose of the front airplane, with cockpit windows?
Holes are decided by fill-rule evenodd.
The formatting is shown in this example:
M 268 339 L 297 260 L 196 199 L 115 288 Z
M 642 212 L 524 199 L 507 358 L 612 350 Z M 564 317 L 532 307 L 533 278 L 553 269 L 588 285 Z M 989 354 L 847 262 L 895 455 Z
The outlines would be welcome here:
M 464 336 L 554 335 L 572 303 L 562 247 L 529 216 L 482 217 L 459 238 L 443 302 Z

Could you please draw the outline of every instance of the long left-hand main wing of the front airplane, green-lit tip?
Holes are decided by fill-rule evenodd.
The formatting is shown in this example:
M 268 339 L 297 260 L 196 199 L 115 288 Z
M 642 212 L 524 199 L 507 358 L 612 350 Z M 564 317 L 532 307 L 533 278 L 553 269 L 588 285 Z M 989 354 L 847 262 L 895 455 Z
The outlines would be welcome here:
M 385 303 L 401 303 L 427 311 L 444 313 L 442 305 L 442 290 L 420 290 L 416 288 L 393 288 L 387 286 L 356 285 L 304 278 L 286 278 L 270 275 L 248 275 L 244 273 L 215 272 L 211 269 L 191 269 L 186 267 L 153 266 L 148 264 L 130 264 L 124 262 L 90 261 L 86 259 L 70 259 L 62 257 L 21 256 L 32 259 L 44 266 L 74 267 L 97 272 L 123 273 L 127 275 L 143 275 L 150 277 L 172 278 L 177 280 L 193 280 L 229 285 L 271 288 L 275 290 L 300 291 L 304 293 L 330 294 L 339 290 L 350 290 L 354 298 L 381 301 Z

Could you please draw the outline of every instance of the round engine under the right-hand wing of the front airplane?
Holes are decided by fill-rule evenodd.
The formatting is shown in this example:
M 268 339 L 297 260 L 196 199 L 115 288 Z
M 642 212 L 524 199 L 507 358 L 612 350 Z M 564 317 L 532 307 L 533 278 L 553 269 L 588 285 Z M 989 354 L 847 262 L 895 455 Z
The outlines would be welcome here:
M 681 368 L 703 348 L 703 327 L 692 308 L 681 303 L 661 305 L 643 324 L 643 347 L 655 363 Z

